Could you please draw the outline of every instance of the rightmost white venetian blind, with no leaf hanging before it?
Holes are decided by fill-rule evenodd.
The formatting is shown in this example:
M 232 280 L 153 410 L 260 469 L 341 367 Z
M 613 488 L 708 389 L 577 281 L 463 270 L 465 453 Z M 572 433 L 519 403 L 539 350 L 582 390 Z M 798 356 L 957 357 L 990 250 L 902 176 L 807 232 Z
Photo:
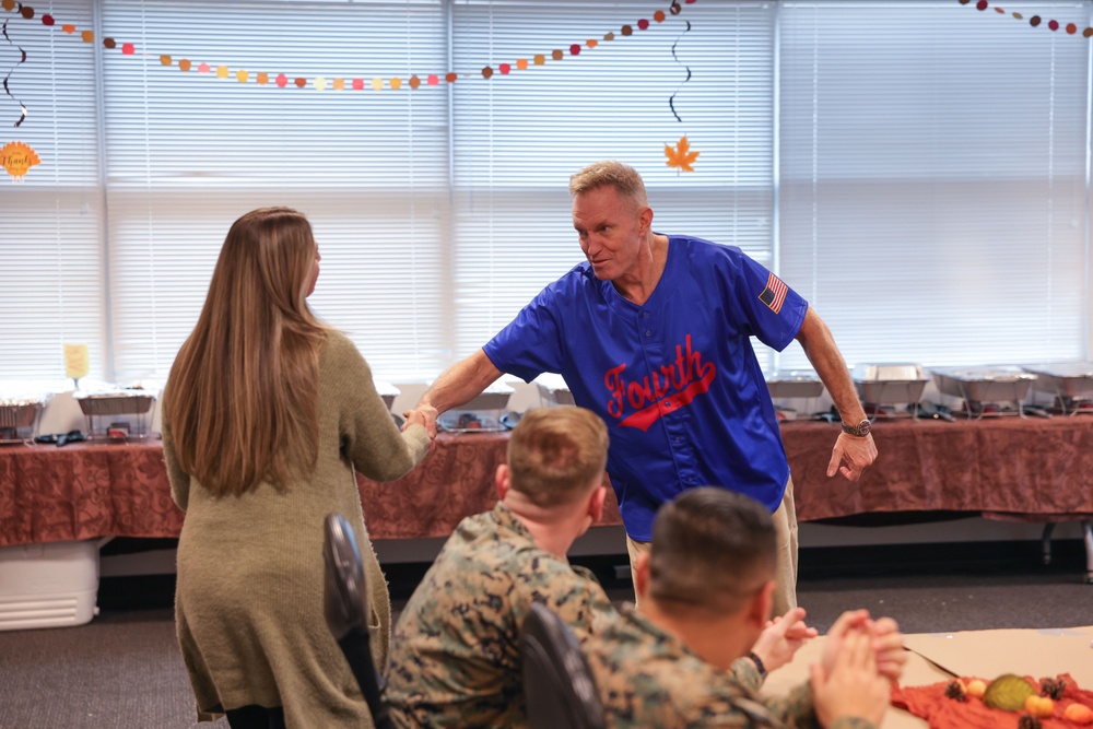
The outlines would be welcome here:
M 1090 7 L 783 3 L 780 269 L 849 363 L 1086 356 Z

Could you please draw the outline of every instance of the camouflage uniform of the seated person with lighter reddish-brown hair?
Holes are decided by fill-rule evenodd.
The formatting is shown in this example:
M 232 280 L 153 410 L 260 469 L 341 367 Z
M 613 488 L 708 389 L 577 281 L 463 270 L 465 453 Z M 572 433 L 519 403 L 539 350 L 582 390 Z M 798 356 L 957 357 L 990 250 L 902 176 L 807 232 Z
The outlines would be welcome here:
M 536 601 L 581 642 L 618 619 L 595 578 L 539 549 L 503 503 L 463 519 L 395 627 L 396 726 L 527 727 L 519 628 Z

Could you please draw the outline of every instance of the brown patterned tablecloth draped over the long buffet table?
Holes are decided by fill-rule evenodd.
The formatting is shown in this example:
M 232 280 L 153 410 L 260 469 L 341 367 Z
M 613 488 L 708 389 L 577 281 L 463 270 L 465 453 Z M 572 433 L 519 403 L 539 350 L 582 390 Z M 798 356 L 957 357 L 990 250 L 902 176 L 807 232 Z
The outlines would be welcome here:
M 890 421 L 858 483 L 826 477 L 836 425 L 787 422 L 783 438 L 802 521 L 954 510 L 1033 520 L 1093 514 L 1093 418 Z M 373 539 L 445 537 L 493 506 L 507 434 L 437 437 L 406 478 L 359 479 Z M 601 524 L 620 524 L 611 496 Z M 158 440 L 0 448 L 0 546 L 96 537 L 177 537 Z

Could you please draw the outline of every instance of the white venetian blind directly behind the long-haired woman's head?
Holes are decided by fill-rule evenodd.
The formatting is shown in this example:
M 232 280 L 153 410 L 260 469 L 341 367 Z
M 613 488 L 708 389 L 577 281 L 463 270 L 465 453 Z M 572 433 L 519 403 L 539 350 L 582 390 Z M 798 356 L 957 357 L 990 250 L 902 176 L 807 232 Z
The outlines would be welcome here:
M 312 221 L 312 305 L 377 377 L 446 363 L 447 92 L 409 86 L 447 70 L 439 1 L 103 0 L 102 24 L 137 50 L 103 54 L 119 379 L 166 374 L 231 223 L 270 204 Z

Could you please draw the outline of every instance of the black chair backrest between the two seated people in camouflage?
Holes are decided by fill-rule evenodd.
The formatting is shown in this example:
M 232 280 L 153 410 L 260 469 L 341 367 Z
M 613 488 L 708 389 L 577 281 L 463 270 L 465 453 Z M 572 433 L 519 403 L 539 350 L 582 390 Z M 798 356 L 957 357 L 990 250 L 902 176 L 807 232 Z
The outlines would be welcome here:
M 536 603 L 520 626 L 524 697 L 532 729 L 602 729 L 603 706 L 573 633 Z

